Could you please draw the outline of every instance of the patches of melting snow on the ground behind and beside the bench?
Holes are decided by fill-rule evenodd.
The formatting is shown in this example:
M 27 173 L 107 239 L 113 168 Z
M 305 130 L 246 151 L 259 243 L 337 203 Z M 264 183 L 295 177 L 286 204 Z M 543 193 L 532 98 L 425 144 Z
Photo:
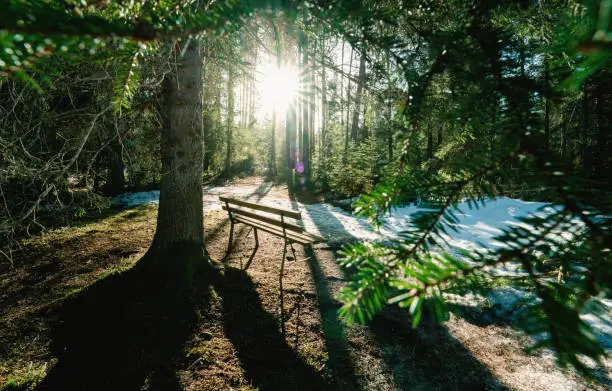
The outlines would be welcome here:
M 221 194 L 252 198 L 257 195 L 257 185 L 247 186 L 206 186 L 204 190 L 204 207 L 207 210 L 219 210 L 221 204 L 217 199 Z M 113 201 L 125 206 L 141 204 L 157 204 L 159 191 L 140 193 L 126 193 L 113 198 Z M 272 206 L 298 209 L 302 211 L 304 227 L 309 231 L 322 234 L 329 239 L 331 245 L 338 245 L 354 240 L 385 240 L 397 238 L 402 231 L 411 226 L 410 218 L 413 214 L 425 210 L 420 206 L 404 206 L 396 208 L 383 219 L 383 226 L 374 230 L 362 218 L 358 218 L 341 208 L 330 204 L 302 204 L 288 199 L 277 197 L 263 197 L 257 202 Z M 460 212 L 456 213 L 458 222 L 454 224 L 457 232 L 446 235 L 447 248 L 473 250 L 476 248 L 492 248 L 504 246 L 494 238 L 502 233 L 502 229 L 511 226 L 521 226 L 518 220 L 528 215 L 546 215 L 554 213 L 557 209 L 547 203 L 526 202 L 517 199 L 502 197 L 486 201 L 478 209 L 470 208 L 467 202 L 459 204 Z M 565 233 L 564 233 L 565 234 Z M 567 240 L 571 236 L 563 235 Z

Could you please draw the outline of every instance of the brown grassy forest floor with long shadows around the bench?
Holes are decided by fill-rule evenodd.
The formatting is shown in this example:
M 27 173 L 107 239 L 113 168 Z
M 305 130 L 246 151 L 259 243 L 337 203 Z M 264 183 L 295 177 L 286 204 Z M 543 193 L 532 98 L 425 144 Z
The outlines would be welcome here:
M 286 187 L 260 179 L 215 189 L 205 195 L 204 221 L 207 248 L 216 259 L 224 256 L 229 234 L 218 194 L 227 190 L 252 201 L 296 201 Z M 155 205 L 111 209 L 22 243 L 14 254 L 15 267 L 0 268 L 0 390 L 34 389 L 60 367 L 54 329 L 67 319 L 58 314 L 74 298 L 87 297 L 105 280 L 132 268 L 151 243 L 156 215 Z M 222 277 L 210 287 L 189 333 L 180 335 L 180 354 L 161 358 L 176 384 L 160 389 L 606 389 L 562 372 L 549 352 L 525 353 L 528 338 L 507 321 L 478 311 L 451 315 L 443 324 L 424 321 L 413 330 L 405 312 L 390 308 L 368 326 L 347 326 L 337 315 L 340 303 L 335 295 L 346 276 L 335 259 L 336 244 L 295 246 L 297 259 L 286 263 L 281 295 L 282 240 L 261 233 L 257 255 L 243 271 L 254 244 L 248 231 L 238 226 Z M 104 292 L 104 298 L 90 305 L 105 300 L 101 307 L 111 308 L 132 297 L 113 289 Z M 130 311 L 142 308 L 139 300 L 144 299 L 125 307 L 127 319 L 133 317 Z M 170 343 L 168 334 L 147 331 L 164 328 L 149 324 L 155 322 L 152 313 L 145 315 L 138 330 L 132 330 L 136 326 L 125 317 L 105 319 L 104 327 L 96 330 L 108 335 L 84 342 L 91 344 L 80 347 L 81 365 L 113 377 L 113 366 L 95 358 L 110 349 L 105 345 L 110 343 L 121 365 L 136 368 L 139 360 L 122 359 L 134 353 L 134 347 L 126 345 L 136 344 L 135 351 L 147 352 L 151 346 Z M 126 343 L 130 338 L 135 342 Z M 111 339 L 121 343 L 108 342 Z M 163 349 L 153 351 L 164 354 Z M 144 373 L 134 383 L 138 387 L 126 389 L 154 389 L 156 376 L 163 374 Z M 609 372 L 602 378 L 609 379 Z M 92 379 L 82 381 L 78 389 L 104 389 Z

